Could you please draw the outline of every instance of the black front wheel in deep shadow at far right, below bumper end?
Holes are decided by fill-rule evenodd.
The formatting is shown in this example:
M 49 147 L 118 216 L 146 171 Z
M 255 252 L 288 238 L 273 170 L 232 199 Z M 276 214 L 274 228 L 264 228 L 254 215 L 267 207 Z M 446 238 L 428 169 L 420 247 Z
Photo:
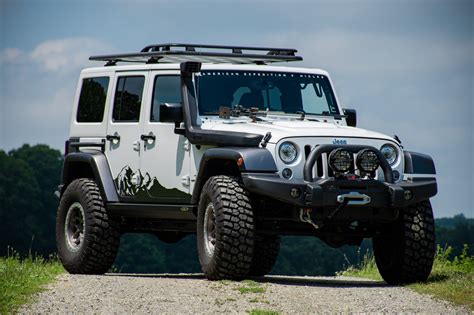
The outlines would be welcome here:
M 426 281 L 435 256 L 435 227 L 430 202 L 400 210 L 397 221 L 373 239 L 375 262 L 388 284 Z

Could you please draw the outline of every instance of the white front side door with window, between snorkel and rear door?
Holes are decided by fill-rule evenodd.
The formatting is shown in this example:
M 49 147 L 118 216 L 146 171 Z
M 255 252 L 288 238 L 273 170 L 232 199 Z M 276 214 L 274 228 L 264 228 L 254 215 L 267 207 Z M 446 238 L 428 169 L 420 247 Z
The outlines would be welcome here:
M 186 204 L 191 199 L 190 144 L 184 136 L 174 133 L 174 123 L 160 121 L 160 104 L 181 103 L 179 73 L 152 72 L 150 87 L 140 156 L 148 201 Z

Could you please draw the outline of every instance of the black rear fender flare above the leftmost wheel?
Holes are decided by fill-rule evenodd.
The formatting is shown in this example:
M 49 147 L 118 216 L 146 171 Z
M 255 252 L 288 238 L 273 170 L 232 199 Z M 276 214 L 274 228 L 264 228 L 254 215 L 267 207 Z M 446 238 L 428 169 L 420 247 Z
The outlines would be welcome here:
M 82 152 L 73 152 L 66 155 L 63 163 L 61 182 L 63 185 L 61 195 L 67 185 L 76 178 L 81 177 L 77 174 L 74 164 L 87 164 L 92 170 L 94 179 L 99 186 L 102 198 L 105 202 L 119 202 L 119 197 L 115 183 L 110 172 L 109 163 L 104 153 L 96 150 L 84 150 Z

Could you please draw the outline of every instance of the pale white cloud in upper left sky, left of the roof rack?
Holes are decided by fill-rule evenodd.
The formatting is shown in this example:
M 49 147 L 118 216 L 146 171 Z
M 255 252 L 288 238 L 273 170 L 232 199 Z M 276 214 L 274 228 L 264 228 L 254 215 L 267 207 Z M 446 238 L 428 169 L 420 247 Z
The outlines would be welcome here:
M 31 53 L 18 48 L 0 51 L 0 64 L 36 64 L 41 70 L 70 72 L 90 65 L 89 56 L 110 52 L 107 43 L 89 37 L 52 39 L 40 43 Z

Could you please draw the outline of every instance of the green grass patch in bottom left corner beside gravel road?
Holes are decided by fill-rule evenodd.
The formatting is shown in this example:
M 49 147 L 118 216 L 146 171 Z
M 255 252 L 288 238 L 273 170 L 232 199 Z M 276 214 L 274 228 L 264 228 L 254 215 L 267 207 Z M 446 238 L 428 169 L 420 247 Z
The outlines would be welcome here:
M 18 254 L 0 257 L 0 314 L 15 313 L 34 293 L 64 272 L 57 259 L 21 259 Z

